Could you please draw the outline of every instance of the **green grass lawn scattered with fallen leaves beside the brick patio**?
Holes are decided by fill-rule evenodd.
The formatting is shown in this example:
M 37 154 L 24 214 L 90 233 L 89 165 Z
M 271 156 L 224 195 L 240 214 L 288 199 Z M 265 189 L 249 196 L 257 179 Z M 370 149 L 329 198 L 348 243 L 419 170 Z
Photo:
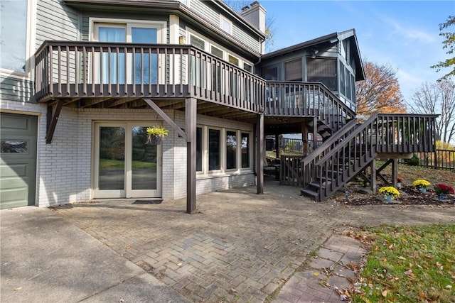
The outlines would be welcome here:
M 379 226 L 353 302 L 455 302 L 455 225 Z

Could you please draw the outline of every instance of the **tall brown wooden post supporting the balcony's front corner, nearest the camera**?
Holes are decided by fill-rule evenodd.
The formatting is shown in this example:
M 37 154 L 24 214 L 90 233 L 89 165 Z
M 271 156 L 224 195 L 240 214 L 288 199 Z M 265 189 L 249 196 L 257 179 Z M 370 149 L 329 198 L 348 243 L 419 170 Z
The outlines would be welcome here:
M 185 100 L 186 118 L 186 212 L 196 211 L 196 115 L 197 99 Z

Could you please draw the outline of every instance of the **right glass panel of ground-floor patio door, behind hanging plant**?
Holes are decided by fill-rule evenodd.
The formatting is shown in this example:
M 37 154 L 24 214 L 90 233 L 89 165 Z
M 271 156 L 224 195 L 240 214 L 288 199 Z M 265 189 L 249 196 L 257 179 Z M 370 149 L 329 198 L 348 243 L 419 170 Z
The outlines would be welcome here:
M 132 128 L 132 190 L 157 189 L 157 145 L 146 144 L 146 126 Z

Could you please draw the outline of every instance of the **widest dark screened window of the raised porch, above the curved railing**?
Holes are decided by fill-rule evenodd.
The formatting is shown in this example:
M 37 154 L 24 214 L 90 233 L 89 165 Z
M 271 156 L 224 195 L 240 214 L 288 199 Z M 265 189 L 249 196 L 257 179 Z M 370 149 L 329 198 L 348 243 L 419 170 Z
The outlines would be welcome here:
M 322 82 L 332 91 L 338 90 L 336 79 L 336 59 L 306 58 L 306 81 Z

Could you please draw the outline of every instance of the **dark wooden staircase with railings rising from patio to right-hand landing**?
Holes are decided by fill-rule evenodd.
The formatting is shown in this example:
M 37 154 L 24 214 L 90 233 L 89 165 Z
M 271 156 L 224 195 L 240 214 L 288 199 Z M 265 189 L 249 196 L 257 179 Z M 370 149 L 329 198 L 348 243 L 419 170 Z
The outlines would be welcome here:
M 361 124 L 348 121 L 301 160 L 301 194 L 324 201 L 379 156 L 434 151 L 436 117 L 375 114 Z

